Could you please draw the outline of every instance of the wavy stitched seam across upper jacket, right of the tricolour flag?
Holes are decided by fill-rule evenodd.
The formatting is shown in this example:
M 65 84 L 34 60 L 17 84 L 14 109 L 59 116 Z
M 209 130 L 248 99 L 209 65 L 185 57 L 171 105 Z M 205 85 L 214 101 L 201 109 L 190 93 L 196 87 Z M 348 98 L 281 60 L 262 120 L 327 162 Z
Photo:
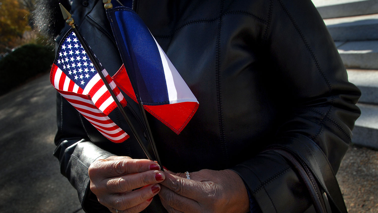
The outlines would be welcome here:
M 174 33 L 176 33 L 177 31 L 181 30 L 182 28 L 186 27 L 186 26 L 189 26 L 189 25 L 192 25 L 192 24 L 195 24 L 195 23 L 210 23 L 210 22 L 215 22 L 217 20 L 219 20 L 221 17 L 225 16 L 225 15 L 229 15 L 229 14 L 242 14 L 242 15 L 245 15 L 245 16 L 249 16 L 249 17 L 252 17 L 256 20 L 258 20 L 259 22 L 262 22 L 264 24 L 267 23 L 266 20 L 260 18 L 259 16 L 256 16 L 254 15 L 253 13 L 251 12 L 248 12 L 248 11 L 238 11 L 238 10 L 235 10 L 235 11 L 228 11 L 228 12 L 225 12 L 222 14 L 222 16 L 220 17 L 217 17 L 217 18 L 214 18 L 214 19 L 197 19 L 197 20 L 191 20 L 189 22 L 186 22 L 184 23 L 183 25 L 181 25 L 180 27 L 176 28 L 173 33 L 171 35 L 154 35 L 155 38 L 161 38 L 161 39 L 167 39 L 167 38 L 170 38 L 173 36 Z

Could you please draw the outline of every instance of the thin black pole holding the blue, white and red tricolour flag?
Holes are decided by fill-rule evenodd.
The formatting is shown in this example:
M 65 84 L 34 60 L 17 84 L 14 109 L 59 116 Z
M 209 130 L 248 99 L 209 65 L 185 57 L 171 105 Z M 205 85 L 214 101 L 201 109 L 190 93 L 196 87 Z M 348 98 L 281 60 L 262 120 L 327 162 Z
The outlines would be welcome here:
M 104 5 L 105 9 L 111 9 L 111 8 L 113 8 L 111 0 L 102 0 L 102 3 L 105 4 Z M 124 66 L 125 66 L 126 71 L 129 71 L 129 68 L 127 67 L 126 63 L 124 63 Z M 141 102 L 141 100 L 139 98 L 138 90 L 136 90 L 135 85 L 133 83 L 132 83 L 132 87 L 133 87 L 134 92 L 135 92 L 136 100 L 137 100 L 137 102 L 139 104 L 139 110 L 141 111 L 141 114 L 142 114 L 142 117 L 143 117 L 144 127 L 146 128 L 147 136 L 148 136 L 148 139 L 149 139 L 150 144 L 152 146 L 153 154 L 155 154 L 156 161 L 160 165 L 160 168 L 163 169 L 163 164 L 161 163 L 161 160 L 160 160 L 160 157 L 159 157 L 159 154 L 158 154 L 158 150 L 156 148 L 155 140 L 153 139 L 152 131 L 151 131 L 150 125 L 148 123 L 146 111 L 144 110 L 143 104 L 142 104 L 142 102 Z

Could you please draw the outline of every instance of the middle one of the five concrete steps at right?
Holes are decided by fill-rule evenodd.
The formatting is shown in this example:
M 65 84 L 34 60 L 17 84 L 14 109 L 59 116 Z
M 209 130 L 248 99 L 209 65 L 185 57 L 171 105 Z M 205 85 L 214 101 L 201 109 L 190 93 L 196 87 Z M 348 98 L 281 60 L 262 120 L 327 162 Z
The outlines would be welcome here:
M 346 68 L 378 70 L 378 40 L 335 44 Z

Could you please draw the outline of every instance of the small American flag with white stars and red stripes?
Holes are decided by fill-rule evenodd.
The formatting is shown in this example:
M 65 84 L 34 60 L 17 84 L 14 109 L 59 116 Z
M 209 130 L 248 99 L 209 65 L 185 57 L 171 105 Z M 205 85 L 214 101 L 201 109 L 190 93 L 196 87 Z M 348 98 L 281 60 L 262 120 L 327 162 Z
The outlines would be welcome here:
M 97 58 L 96 60 L 119 102 L 126 106 L 124 96 Z M 108 117 L 117 105 L 72 29 L 60 43 L 51 68 L 50 81 L 53 87 L 106 138 L 115 143 L 129 138 L 129 135 Z

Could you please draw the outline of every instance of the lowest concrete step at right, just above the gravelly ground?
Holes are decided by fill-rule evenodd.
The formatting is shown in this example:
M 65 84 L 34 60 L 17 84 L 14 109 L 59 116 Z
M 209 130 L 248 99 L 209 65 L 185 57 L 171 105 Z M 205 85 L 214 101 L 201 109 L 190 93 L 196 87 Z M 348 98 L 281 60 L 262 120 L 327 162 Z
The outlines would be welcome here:
M 352 143 L 378 149 L 378 106 L 357 104 L 361 117 L 356 120 Z

